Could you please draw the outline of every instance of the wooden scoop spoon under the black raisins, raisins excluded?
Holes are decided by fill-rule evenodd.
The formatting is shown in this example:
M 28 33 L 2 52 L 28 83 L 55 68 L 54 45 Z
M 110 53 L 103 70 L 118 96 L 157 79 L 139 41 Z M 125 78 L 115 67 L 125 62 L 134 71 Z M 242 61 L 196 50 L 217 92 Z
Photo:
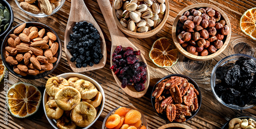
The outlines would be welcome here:
M 67 45 L 70 41 L 69 35 L 73 33 L 72 29 L 75 26 L 75 23 L 77 22 L 83 22 L 86 21 L 88 23 L 92 23 L 93 26 L 98 30 L 99 35 L 100 35 L 100 40 L 101 40 L 101 51 L 102 51 L 102 59 L 100 59 L 100 62 L 96 65 L 94 64 L 92 67 L 87 66 L 86 68 L 76 68 L 75 62 L 71 62 L 70 58 L 72 57 L 70 51 L 67 49 Z M 105 39 L 102 34 L 102 31 L 99 28 L 99 25 L 96 23 L 95 19 L 87 9 L 86 5 L 84 4 L 83 0 L 72 0 L 71 2 L 71 9 L 70 9 L 70 14 L 69 14 L 69 20 L 65 32 L 65 38 L 64 38 L 64 46 L 65 46 L 65 53 L 67 56 L 67 60 L 69 63 L 69 66 L 71 69 L 76 72 L 86 72 L 86 71 L 91 71 L 91 70 L 96 70 L 103 68 L 106 63 L 106 44 L 105 44 Z

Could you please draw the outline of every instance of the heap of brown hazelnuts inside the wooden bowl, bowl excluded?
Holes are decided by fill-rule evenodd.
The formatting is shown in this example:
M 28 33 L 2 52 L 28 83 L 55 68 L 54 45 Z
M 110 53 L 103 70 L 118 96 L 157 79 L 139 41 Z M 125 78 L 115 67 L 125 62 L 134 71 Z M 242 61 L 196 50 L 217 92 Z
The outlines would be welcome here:
M 230 32 L 222 15 L 209 7 L 186 11 L 177 26 L 179 44 L 188 53 L 198 56 L 218 51 Z

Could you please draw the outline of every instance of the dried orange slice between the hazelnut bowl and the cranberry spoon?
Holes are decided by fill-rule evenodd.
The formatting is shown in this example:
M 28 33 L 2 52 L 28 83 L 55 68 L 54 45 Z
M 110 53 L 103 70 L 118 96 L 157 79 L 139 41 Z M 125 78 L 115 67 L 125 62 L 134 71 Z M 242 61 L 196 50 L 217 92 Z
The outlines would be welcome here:
M 178 61 L 178 50 L 168 38 L 157 39 L 150 51 L 150 59 L 158 67 L 172 67 Z

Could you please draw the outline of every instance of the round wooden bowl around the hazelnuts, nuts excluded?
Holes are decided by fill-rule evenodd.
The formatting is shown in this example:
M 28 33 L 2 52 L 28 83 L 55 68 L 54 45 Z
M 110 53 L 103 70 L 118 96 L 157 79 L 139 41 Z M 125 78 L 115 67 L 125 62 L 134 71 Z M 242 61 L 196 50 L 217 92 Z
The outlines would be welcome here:
M 196 56 L 196 55 L 188 53 L 185 49 L 183 49 L 181 47 L 181 45 L 179 44 L 179 42 L 177 40 L 177 35 L 176 35 L 177 24 L 179 22 L 179 18 L 183 15 L 183 13 L 190 10 L 190 9 L 201 8 L 201 7 L 210 7 L 212 9 L 218 11 L 222 15 L 222 18 L 226 20 L 226 25 L 230 28 L 229 34 L 224 37 L 224 39 L 226 38 L 226 40 L 225 40 L 225 42 L 223 41 L 223 46 L 219 50 L 217 50 L 215 53 L 207 55 L 207 56 Z M 176 18 L 174 20 L 174 24 L 173 24 L 173 33 L 172 34 L 173 34 L 174 44 L 175 44 L 176 48 L 180 51 L 181 54 L 183 54 L 187 58 L 193 59 L 193 60 L 209 60 L 209 59 L 212 59 L 212 58 L 220 55 L 226 49 L 226 47 L 228 45 L 228 42 L 230 40 L 230 37 L 231 37 L 231 25 L 230 25 L 230 22 L 229 22 L 229 19 L 228 19 L 227 15 L 220 8 L 218 8 L 217 6 L 210 5 L 210 4 L 204 4 L 204 3 L 194 4 L 194 5 L 190 5 L 186 8 L 184 8 L 176 16 Z

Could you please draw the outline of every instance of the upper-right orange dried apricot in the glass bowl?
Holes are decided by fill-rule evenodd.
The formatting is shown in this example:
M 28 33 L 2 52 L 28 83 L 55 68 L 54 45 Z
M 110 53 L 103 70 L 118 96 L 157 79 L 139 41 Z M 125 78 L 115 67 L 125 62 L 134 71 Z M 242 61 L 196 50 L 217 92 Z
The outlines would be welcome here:
M 124 123 L 133 124 L 139 121 L 141 118 L 141 113 L 136 110 L 131 110 L 125 115 Z

